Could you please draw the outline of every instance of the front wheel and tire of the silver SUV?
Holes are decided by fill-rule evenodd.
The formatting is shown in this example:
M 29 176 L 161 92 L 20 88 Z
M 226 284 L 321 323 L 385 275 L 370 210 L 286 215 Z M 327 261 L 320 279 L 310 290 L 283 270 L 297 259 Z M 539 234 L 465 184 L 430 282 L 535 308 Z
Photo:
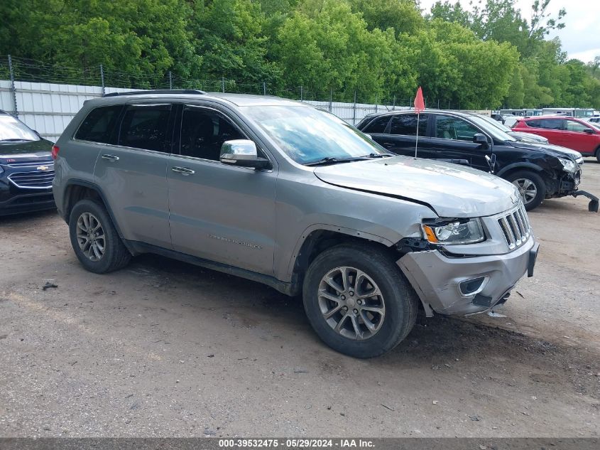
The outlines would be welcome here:
M 324 279 L 329 276 L 335 286 L 343 288 L 338 284 L 342 268 L 347 269 L 347 286 L 337 291 Z M 373 288 L 381 295 L 364 296 L 373 293 Z M 366 245 L 338 245 L 318 255 L 306 273 L 302 297 L 308 321 L 322 341 L 355 358 L 373 358 L 392 350 L 410 333 L 417 318 L 418 299 L 412 286 L 388 255 Z M 347 311 L 342 307 L 330 318 L 324 317 L 342 304 Z M 371 330 L 364 318 L 376 329 Z M 336 331 L 339 323 L 342 326 Z

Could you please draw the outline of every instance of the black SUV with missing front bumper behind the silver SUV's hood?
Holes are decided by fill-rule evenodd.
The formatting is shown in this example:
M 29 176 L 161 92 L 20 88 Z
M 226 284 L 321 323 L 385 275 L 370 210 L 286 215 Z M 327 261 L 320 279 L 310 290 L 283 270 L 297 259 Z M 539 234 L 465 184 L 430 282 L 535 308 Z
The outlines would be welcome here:
M 415 155 L 415 112 L 371 114 L 357 128 L 393 153 Z M 479 114 L 438 110 L 420 114 L 418 156 L 495 173 L 519 188 L 527 210 L 544 198 L 565 195 L 586 195 L 592 200 L 590 210 L 598 209 L 594 195 L 577 190 L 582 169 L 575 156 L 556 146 L 519 142 Z

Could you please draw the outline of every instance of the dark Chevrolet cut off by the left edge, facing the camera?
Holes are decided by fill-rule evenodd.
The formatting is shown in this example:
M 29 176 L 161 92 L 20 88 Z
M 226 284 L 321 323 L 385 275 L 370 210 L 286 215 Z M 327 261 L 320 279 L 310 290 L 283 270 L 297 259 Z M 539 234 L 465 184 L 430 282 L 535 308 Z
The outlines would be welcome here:
M 52 142 L 0 111 L 0 215 L 55 208 Z

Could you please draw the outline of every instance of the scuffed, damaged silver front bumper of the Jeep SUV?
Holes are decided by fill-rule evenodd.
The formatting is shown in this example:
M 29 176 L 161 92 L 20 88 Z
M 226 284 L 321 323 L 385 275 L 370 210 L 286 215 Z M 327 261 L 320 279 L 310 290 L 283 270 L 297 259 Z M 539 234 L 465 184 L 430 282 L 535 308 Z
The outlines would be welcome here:
M 428 316 L 487 311 L 506 298 L 538 255 L 533 234 L 505 255 L 447 257 L 439 250 L 408 252 L 396 264 L 413 285 Z

